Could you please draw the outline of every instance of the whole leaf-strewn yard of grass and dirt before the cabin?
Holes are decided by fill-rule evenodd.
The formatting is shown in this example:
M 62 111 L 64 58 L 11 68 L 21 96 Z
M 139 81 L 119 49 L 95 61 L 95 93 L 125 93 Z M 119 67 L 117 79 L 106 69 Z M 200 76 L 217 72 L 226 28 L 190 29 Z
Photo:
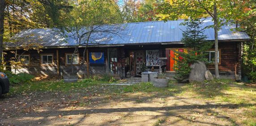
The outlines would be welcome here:
M 0 98 L 4 125 L 256 126 L 256 87 L 230 80 L 155 88 L 150 83 L 102 85 L 31 81 Z

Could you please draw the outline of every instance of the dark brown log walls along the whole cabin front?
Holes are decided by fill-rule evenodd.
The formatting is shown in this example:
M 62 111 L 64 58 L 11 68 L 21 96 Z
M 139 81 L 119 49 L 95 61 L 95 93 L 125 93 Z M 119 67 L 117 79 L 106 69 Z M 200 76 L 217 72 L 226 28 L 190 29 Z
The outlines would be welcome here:
M 137 49 L 137 48 L 138 49 Z M 125 58 L 129 56 L 129 50 L 160 50 L 160 57 L 168 55 L 166 54 L 166 48 L 177 48 L 182 47 L 182 45 L 156 45 L 156 46 L 144 46 L 143 48 L 139 46 L 124 46 L 124 47 L 117 47 L 118 48 L 118 59 L 123 66 L 124 62 L 121 58 Z M 213 46 L 214 48 L 214 46 Z M 241 42 L 220 42 L 219 49 L 221 50 L 221 63 L 219 64 L 219 73 L 221 78 L 226 79 L 236 79 L 241 80 Z M 57 63 L 57 50 L 59 55 L 59 63 Z M 74 48 L 55 48 L 55 49 L 43 49 L 42 52 L 37 53 L 35 50 L 29 50 L 25 54 L 30 55 L 30 65 L 24 65 L 19 68 L 16 73 L 19 72 L 26 72 L 35 76 L 61 76 L 62 71 L 64 70 L 71 70 L 71 65 L 65 64 L 65 53 L 73 53 Z M 89 72 L 90 76 L 92 75 L 104 75 L 108 73 L 108 57 L 107 57 L 107 47 L 105 48 L 90 48 L 89 52 L 104 52 L 104 66 L 91 66 L 89 65 Z M 21 52 L 19 52 L 21 53 Z M 124 54 L 123 54 L 124 53 Z M 53 65 L 42 65 L 40 61 L 40 54 L 53 54 L 54 64 Z M 123 55 L 122 55 L 123 54 Z M 5 61 L 9 61 L 10 58 L 13 57 L 13 54 L 7 51 L 7 55 L 4 56 Z M 82 61 L 83 57 L 83 48 L 79 49 L 79 57 L 80 62 Z M 85 55 L 86 61 L 86 55 Z M 168 62 L 168 61 L 167 61 Z M 59 69 L 58 69 L 59 64 Z M 75 66 L 79 67 L 79 66 Z M 83 78 L 87 75 L 87 63 L 83 65 L 82 69 L 78 72 L 78 76 Z M 207 66 L 209 70 L 214 74 L 214 65 L 209 64 Z M 124 67 L 125 69 L 125 67 Z M 119 73 L 123 73 L 125 75 L 124 69 L 120 70 Z M 14 69 L 11 69 L 14 72 Z M 59 70 L 59 72 L 58 72 Z M 175 75 L 174 73 L 166 73 L 167 76 L 171 78 Z M 119 75 L 115 75 L 119 76 Z

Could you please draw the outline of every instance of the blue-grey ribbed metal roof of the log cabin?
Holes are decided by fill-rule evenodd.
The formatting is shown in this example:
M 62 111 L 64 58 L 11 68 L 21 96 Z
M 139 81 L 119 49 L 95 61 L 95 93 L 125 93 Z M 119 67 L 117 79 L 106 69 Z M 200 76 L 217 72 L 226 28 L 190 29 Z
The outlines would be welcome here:
M 177 43 L 182 38 L 182 31 L 186 30 L 186 26 L 180 25 L 182 22 L 184 20 L 127 23 L 124 24 L 125 30 L 120 32 L 121 35 L 112 35 L 110 40 L 102 44 Z M 205 18 L 202 28 L 209 25 L 213 25 L 212 18 Z M 250 39 L 245 32 L 235 31 L 234 28 L 235 24 L 223 25 L 218 31 L 218 40 Z M 207 40 L 214 40 L 213 28 L 205 29 L 205 35 L 207 35 Z M 95 38 L 97 36 L 94 34 Z M 76 45 L 73 38 L 63 38 L 53 29 L 26 29 L 19 33 L 19 37 L 23 38 L 24 42 L 38 42 L 44 47 Z M 10 42 L 5 42 L 5 45 L 6 47 L 13 46 Z

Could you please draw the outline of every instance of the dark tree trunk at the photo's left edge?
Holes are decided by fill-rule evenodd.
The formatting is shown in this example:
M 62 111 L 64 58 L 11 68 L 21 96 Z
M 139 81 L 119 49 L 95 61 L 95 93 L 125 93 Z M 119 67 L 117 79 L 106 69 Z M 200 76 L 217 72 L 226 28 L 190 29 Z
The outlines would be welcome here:
M 3 41 L 4 41 L 4 9 L 5 0 L 0 0 L 0 63 L 2 63 Z

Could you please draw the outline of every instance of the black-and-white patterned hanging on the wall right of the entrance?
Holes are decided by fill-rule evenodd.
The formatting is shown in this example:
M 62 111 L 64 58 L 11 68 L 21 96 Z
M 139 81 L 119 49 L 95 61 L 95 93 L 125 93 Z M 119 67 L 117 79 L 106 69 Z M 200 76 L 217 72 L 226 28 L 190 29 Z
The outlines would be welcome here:
M 159 50 L 146 50 L 146 66 L 159 66 Z

